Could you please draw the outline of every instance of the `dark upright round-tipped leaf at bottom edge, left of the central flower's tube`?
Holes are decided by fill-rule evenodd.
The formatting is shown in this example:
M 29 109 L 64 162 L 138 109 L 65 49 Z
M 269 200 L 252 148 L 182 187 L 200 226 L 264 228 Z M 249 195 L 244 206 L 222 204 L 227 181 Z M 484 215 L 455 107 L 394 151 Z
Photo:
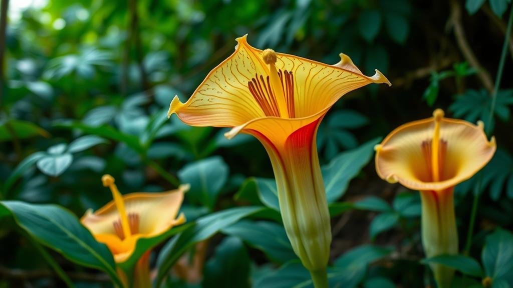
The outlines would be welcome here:
M 249 255 L 239 238 L 225 238 L 205 263 L 205 288 L 249 287 Z

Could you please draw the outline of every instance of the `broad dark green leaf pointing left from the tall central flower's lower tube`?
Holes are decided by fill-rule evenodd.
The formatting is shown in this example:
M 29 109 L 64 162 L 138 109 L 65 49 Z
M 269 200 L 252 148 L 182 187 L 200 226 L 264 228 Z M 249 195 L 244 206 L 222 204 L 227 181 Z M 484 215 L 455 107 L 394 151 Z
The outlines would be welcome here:
M 221 232 L 241 238 L 250 246 L 264 252 L 267 257 L 274 261 L 285 263 L 298 259 L 281 224 L 241 220 L 224 228 Z

